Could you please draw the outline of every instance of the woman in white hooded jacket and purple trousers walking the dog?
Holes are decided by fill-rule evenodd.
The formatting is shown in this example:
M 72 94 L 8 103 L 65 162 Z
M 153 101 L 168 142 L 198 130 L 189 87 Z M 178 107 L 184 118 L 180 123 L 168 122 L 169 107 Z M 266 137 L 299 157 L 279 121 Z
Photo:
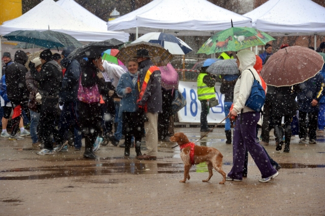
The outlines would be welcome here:
M 233 141 L 233 168 L 226 176 L 228 181 L 242 181 L 245 151 L 248 149 L 262 178 L 259 182 L 269 182 L 279 173 L 271 165 L 263 148 L 256 142 L 256 125 L 260 114 L 245 106 L 246 100 L 250 96 L 251 88 L 255 79 L 261 83 L 261 79 L 254 69 L 256 62 L 255 54 L 250 50 L 242 50 L 237 53 L 237 64 L 241 71 L 241 76 L 236 82 L 234 89 L 234 109 L 231 116 L 237 117 L 234 129 Z M 253 77 L 254 75 L 254 77 Z

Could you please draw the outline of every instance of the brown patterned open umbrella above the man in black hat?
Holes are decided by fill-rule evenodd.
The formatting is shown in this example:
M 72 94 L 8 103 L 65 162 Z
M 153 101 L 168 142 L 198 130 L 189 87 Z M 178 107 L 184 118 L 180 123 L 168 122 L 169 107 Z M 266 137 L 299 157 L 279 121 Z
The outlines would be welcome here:
M 161 47 L 159 44 L 148 42 L 127 44 L 120 49 L 115 57 L 125 64 L 129 58 L 133 58 L 137 55 L 137 50 L 144 48 L 149 51 L 149 56 L 152 56 L 152 62 L 158 67 L 166 66 L 174 57 L 168 50 L 165 50 L 164 47 Z

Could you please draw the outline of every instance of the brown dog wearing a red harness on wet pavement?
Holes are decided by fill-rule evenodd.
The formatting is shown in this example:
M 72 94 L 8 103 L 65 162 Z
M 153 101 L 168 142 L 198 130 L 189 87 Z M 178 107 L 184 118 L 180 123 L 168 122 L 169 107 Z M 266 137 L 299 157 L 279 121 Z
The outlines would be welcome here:
M 171 136 L 170 141 L 177 142 L 179 146 L 184 145 L 189 142 L 187 136 L 184 133 L 175 133 L 174 136 Z M 189 169 L 192 166 L 191 159 L 190 159 L 190 151 L 191 147 L 186 147 L 181 150 L 181 159 L 184 163 L 184 179 L 180 181 L 181 183 L 186 182 L 186 178 L 189 180 Z M 202 182 L 208 182 L 212 177 L 212 168 L 219 172 L 223 179 L 219 184 L 224 184 L 225 182 L 225 172 L 222 170 L 222 155 L 221 153 L 210 147 L 204 146 L 194 146 L 194 164 L 199 164 L 202 162 L 206 162 L 209 169 L 209 177 Z

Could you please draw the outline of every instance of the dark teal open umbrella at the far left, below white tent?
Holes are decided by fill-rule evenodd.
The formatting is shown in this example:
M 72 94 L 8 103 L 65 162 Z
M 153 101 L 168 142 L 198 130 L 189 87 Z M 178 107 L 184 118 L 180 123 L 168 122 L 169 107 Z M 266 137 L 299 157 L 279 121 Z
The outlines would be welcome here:
M 8 41 L 26 42 L 47 49 L 64 47 L 64 45 L 53 36 L 36 30 L 18 30 L 4 36 Z

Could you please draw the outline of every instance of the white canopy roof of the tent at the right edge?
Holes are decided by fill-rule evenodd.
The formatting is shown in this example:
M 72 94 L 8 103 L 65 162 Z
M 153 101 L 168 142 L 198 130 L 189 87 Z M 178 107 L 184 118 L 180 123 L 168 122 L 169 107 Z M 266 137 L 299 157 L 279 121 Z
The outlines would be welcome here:
M 311 0 L 270 0 L 244 16 L 273 36 L 325 34 L 325 8 Z

